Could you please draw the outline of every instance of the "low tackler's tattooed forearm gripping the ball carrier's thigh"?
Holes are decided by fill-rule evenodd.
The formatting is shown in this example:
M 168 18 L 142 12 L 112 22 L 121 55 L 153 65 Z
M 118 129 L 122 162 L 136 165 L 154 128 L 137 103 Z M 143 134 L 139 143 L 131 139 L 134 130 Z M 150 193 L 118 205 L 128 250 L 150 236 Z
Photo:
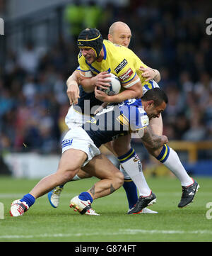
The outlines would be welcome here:
M 138 130 L 138 134 L 152 150 L 158 150 L 158 148 L 161 148 L 164 144 L 168 143 L 168 139 L 165 135 L 156 135 L 153 133 L 150 126 L 146 126 L 145 128 Z

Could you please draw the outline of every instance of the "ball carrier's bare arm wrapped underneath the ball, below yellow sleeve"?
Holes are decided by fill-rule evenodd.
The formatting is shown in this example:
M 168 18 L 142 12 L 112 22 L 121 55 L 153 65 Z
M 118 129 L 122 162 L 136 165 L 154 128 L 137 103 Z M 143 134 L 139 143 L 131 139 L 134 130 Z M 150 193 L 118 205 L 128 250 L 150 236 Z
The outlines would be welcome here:
M 119 103 L 126 99 L 140 99 L 143 96 L 142 84 L 137 74 L 129 82 L 121 82 L 121 84 L 125 90 L 119 94 L 108 96 L 104 91 L 100 91 L 98 88 L 95 88 L 95 97 L 103 102 Z

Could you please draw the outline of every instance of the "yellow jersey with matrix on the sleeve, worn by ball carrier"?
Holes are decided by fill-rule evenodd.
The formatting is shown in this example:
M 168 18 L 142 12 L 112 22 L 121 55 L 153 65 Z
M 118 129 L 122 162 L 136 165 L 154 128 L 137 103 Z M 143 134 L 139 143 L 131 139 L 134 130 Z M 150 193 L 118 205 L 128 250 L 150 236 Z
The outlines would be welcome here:
M 145 77 L 142 77 L 143 73 L 139 70 L 139 67 L 147 67 L 139 57 L 129 48 L 122 45 L 116 45 L 109 40 L 103 40 L 104 57 L 101 62 L 93 62 L 89 64 L 86 58 L 81 54 L 78 55 L 78 63 L 82 72 L 93 72 L 93 74 L 99 74 L 100 72 L 108 71 L 117 77 L 119 77 L 122 86 L 130 82 L 136 74 L 141 80 L 141 84 L 146 84 Z M 127 87 L 127 86 L 126 86 Z

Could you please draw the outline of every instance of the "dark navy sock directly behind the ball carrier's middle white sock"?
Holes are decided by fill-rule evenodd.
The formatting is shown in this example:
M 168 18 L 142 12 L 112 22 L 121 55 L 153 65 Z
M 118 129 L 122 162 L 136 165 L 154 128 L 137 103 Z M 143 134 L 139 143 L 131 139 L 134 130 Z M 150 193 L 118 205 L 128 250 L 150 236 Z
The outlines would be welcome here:
M 124 190 L 126 192 L 126 197 L 128 200 L 129 208 L 131 209 L 136 204 L 136 201 L 138 201 L 138 193 L 136 184 L 132 180 L 124 180 L 123 184 Z

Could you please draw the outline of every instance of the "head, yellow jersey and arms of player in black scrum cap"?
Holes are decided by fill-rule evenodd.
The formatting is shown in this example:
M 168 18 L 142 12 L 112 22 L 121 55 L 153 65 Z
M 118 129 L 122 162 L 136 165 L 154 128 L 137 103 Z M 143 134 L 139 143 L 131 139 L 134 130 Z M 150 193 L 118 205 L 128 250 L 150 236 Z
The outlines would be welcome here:
M 83 39 L 87 37 L 92 39 Z M 115 103 L 126 99 L 141 98 L 143 95 L 142 83 L 145 82 L 145 78 L 142 77 L 139 68 L 141 65 L 145 65 L 129 48 L 114 45 L 109 40 L 102 41 L 99 31 L 90 28 L 83 30 L 79 35 L 78 48 L 81 49 L 78 63 L 81 70 L 80 80 L 84 88 L 92 88 L 93 84 L 90 87 L 90 79 L 88 83 L 83 82 L 83 80 L 87 81 L 91 74 L 107 71 L 119 77 L 124 89 L 113 96 L 102 92 L 102 101 Z

